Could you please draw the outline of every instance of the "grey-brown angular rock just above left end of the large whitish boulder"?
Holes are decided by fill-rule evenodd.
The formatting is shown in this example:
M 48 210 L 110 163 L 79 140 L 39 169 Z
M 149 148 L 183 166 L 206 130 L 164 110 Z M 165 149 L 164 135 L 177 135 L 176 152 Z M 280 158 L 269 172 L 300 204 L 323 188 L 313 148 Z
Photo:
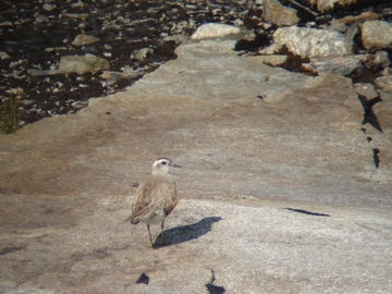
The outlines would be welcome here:
M 299 22 L 297 11 L 283 7 L 278 0 L 264 1 L 262 19 L 278 26 L 294 25 Z

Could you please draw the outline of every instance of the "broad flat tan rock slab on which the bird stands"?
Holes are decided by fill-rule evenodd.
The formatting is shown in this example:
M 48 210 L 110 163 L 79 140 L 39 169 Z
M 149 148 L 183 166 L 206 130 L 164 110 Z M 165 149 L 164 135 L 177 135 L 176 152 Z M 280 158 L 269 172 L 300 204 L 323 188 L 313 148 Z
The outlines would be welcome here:
M 348 79 L 234 44 L 185 42 L 130 90 L 0 137 L 0 292 L 391 290 L 391 124 L 369 143 Z M 152 249 L 122 220 L 158 156 L 183 199 Z

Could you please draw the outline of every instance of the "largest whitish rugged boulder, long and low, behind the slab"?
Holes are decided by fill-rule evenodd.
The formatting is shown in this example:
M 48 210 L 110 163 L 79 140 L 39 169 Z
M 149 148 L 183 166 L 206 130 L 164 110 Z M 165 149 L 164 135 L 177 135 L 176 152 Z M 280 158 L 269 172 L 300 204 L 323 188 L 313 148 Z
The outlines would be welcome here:
M 303 58 L 352 54 L 353 42 L 335 30 L 309 27 L 281 27 L 273 33 L 274 44 L 261 50 L 264 54 L 272 54 L 283 46 Z

